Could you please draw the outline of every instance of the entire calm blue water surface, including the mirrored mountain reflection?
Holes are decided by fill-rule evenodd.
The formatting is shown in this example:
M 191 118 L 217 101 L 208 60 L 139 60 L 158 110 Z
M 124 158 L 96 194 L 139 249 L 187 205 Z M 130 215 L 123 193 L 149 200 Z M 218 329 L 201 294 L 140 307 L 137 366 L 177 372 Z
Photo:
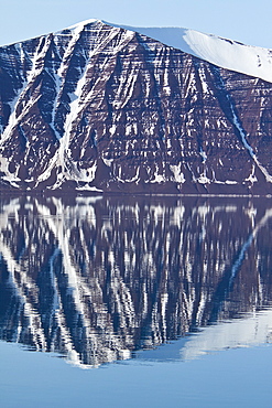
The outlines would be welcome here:
M 272 407 L 271 247 L 268 198 L 1 197 L 0 405 Z

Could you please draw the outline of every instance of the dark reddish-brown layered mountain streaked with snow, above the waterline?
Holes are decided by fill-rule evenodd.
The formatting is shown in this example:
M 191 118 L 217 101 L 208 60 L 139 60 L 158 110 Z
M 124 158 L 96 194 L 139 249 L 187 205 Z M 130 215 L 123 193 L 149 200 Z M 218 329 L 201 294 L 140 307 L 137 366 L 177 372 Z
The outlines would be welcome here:
M 271 51 L 181 30 L 1 47 L 1 190 L 271 194 Z

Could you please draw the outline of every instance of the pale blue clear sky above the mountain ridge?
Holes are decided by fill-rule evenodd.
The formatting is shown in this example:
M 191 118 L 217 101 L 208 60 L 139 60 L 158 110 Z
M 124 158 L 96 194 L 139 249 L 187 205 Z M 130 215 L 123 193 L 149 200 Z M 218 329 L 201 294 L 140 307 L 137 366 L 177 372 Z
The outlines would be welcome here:
M 271 0 L 1 0 L 0 45 L 88 19 L 183 26 L 272 49 Z

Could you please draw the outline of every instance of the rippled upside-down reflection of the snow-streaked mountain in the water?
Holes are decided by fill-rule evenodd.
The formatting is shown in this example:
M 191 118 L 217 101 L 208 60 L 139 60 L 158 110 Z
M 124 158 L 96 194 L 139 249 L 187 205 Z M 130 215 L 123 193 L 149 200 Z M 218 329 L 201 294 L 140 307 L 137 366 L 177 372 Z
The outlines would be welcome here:
M 271 342 L 271 226 L 264 198 L 1 197 L 0 339 L 84 367 Z

